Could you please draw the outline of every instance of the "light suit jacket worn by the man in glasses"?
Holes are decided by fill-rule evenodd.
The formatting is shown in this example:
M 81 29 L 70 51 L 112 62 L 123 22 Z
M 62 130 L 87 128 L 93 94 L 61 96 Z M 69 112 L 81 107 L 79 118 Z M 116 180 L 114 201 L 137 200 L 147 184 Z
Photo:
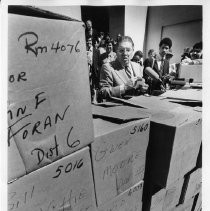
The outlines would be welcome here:
M 138 63 L 131 62 L 131 67 L 134 76 L 143 76 L 143 69 Z M 120 94 L 120 85 L 127 83 L 129 80 L 130 79 L 126 74 L 125 69 L 122 67 L 118 60 L 103 64 L 100 74 L 102 97 L 121 98 L 122 96 Z

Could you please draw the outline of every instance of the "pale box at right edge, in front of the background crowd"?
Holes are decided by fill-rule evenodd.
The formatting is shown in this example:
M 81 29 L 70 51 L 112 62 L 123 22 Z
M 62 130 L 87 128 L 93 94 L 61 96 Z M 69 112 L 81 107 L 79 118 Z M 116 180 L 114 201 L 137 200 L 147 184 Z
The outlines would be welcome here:
M 193 78 L 193 82 L 202 82 L 202 65 L 179 65 L 179 78 Z

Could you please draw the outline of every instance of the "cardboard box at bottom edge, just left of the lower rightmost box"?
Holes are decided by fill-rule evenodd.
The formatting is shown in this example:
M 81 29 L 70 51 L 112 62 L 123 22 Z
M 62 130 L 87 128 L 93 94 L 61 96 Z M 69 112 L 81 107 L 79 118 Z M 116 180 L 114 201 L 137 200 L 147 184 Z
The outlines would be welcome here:
M 178 179 L 167 188 L 163 202 L 163 210 L 169 210 L 179 204 L 183 183 L 184 177 Z

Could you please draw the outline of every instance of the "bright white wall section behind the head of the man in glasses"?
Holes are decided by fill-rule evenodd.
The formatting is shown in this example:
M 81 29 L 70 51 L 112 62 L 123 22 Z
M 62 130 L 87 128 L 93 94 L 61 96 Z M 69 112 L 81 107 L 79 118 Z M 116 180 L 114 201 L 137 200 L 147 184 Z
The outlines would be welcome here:
M 125 35 L 131 36 L 135 51 L 143 51 L 147 7 L 125 6 Z

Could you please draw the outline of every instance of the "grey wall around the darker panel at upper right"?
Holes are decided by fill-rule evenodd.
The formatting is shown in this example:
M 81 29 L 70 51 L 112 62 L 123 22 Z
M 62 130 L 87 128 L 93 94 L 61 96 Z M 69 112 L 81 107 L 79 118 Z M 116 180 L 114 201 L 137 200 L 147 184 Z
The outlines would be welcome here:
M 153 6 L 148 8 L 144 53 L 159 51 L 162 26 L 202 19 L 201 6 Z M 183 34 L 184 36 L 184 34 Z M 172 47 L 173 48 L 173 47 Z M 184 47 L 183 47 L 184 48 Z

